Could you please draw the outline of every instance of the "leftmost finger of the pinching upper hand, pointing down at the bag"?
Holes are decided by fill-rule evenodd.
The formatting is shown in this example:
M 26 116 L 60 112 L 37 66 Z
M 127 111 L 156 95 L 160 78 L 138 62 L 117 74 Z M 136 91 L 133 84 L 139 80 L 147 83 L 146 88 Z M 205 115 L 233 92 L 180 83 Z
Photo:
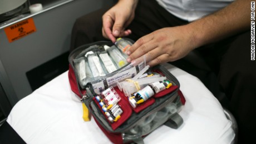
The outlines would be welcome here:
M 112 26 L 113 26 L 113 19 L 110 16 L 104 16 L 103 20 L 103 27 L 102 27 L 102 35 L 106 38 L 109 38 L 112 42 L 116 41 L 115 36 L 112 34 Z

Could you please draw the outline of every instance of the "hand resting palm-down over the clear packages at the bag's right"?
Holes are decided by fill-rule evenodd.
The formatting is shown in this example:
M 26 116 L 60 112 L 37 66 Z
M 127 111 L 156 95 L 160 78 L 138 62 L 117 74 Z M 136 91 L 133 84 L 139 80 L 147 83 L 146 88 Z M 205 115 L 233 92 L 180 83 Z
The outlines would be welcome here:
M 183 58 L 195 47 L 186 26 L 162 28 L 138 39 L 127 51 L 127 62 L 142 61 L 138 59 L 146 54 L 147 64 L 155 66 Z

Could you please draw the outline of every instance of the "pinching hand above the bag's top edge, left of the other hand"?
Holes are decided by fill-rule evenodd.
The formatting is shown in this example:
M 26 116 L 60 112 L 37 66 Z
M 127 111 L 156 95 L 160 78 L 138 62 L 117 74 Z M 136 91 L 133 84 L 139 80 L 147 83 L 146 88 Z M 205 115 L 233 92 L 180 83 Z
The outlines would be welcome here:
M 128 36 L 130 29 L 125 29 L 134 19 L 137 0 L 120 0 L 103 16 L 102 35 L 113 43 L 116 37 Z

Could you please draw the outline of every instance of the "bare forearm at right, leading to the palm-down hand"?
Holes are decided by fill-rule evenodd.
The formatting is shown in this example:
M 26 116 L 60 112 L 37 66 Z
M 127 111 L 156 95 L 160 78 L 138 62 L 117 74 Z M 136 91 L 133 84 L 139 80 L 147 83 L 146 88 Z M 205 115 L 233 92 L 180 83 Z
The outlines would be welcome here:
M 195 48 L 243 32 L 250 28 L 250 1 L 237 0 L 186 28 Z

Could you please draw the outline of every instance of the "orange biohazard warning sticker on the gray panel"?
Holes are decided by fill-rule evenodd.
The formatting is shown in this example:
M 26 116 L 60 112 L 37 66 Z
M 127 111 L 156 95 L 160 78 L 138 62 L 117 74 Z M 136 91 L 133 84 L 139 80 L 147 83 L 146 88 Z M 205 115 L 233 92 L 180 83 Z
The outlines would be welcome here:
M 19 38 L 27 36 L 28 34 L 36 32 L 36 26 L 33 18 L 28 18 L 24 21 L 15 23 L 12 26 L 4 28 L 4 31 L 6 32 L 6 36 L 11 43 Z

